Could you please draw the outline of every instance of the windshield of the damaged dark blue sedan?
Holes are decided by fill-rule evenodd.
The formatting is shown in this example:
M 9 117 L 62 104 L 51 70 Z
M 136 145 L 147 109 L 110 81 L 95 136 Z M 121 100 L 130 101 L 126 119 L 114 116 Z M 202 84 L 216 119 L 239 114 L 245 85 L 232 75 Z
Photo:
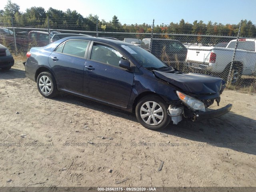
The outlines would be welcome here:
M 163 67 L 170 67 L 143 48 L 133 45 L 121 45 L 121 47 L 128 51 L 132 57 L 144 68 L 158 69 Z

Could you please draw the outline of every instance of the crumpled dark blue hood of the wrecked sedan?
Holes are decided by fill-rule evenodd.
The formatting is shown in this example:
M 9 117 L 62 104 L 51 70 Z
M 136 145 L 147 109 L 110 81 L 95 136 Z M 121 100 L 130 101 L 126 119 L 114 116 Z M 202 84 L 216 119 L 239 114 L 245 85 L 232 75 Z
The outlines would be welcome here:
M 223 85 L 226 84 L 221 78 L 204 74 L 175 74 L 156 70 L 154 73 L 158 78 L 180 88 L 185 93 L 196 94 L 198 98 L 204 98 L 204 96 L 219 98 L 224 88 Z

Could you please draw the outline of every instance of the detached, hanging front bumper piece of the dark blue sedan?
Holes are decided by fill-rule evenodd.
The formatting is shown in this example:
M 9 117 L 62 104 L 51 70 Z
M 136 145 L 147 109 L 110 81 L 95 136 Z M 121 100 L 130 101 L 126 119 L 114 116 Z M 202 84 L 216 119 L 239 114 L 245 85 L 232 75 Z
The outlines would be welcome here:
M 228 104 L 225 107 L 216 110 L 209 110 L 206 112 L 195 112 L 192 115 L 192 121 L 199 121 L 204 119 L 216 118 L 229 112 L 232 108 L 232 104 Z

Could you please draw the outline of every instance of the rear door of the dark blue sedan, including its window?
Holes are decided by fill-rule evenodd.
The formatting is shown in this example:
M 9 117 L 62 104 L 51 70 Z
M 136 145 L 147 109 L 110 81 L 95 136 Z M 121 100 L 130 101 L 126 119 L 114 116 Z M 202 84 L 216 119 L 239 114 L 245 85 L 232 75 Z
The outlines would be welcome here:
M 85 54 L 88 40 L 68 40 L 49 56 L 49 64 L 59 88 L 83 94 Z

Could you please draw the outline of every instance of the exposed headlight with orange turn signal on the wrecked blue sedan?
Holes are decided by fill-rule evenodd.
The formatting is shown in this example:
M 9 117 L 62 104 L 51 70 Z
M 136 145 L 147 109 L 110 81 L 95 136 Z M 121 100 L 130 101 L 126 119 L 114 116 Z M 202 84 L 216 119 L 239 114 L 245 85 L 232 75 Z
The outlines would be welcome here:
M 205 112 L 204 103 L 198 99 L 190 97 L 182 92 L 176 91 L 180 100 L 187 106 L 191 107 L 194 110 L 200 110 Z

